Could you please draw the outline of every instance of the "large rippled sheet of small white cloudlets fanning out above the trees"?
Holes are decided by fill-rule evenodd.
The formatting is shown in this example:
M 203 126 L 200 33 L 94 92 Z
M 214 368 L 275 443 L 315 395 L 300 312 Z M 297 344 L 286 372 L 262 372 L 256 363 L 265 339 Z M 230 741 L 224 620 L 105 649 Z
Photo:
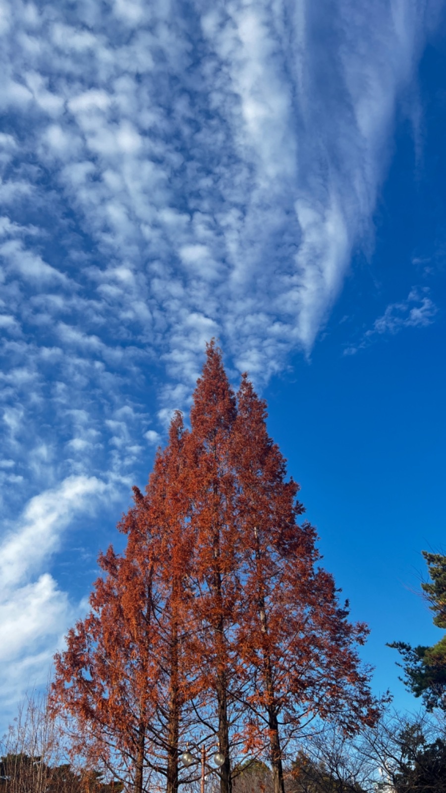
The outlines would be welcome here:
M 71 515 L 31 580 L 21 504 L 98 476 L 128 488 L 211 336 L 258 382 L 310 351 L 442 6 L 0 0 L 2 614 L 24 615 L 21 663 L 26 636 L 48 655 L 63 628 L 44 565 Z

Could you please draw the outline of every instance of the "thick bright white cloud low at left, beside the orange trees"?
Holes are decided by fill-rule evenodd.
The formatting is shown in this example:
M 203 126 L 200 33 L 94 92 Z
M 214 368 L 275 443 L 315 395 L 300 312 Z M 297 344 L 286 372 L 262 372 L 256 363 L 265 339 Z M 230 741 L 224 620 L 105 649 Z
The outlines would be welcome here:
M 59 550 L 63 532 L 105 492 L 106 484 L 95 477 L 68 477 L 34 496 L 19 519 L 6 526 L 0 543 L 0 695 L 6 706 L 24 685 L 41 684 L 48 675 L 75 606 L 45 567 Z

